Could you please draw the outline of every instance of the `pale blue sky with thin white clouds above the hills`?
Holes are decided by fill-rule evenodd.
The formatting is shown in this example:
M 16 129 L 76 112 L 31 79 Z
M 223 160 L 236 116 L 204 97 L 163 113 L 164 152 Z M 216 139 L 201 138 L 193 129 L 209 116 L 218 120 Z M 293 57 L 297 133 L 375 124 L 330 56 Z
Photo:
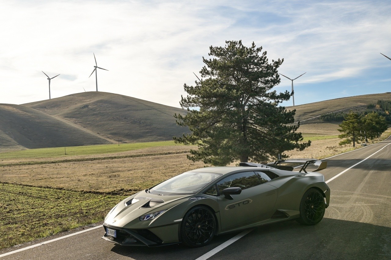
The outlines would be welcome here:
M 295 105 L 391 92 L 391 1 L 1 0 L 0 103 L 98 90 L 180 107 L 210 46 L 262 46 Z M 291 91 L 281 77 L 274 87 Z M 391 99 L 391 95 L 390 95 Z M 283 102 L 291 106 L 292 99 Z

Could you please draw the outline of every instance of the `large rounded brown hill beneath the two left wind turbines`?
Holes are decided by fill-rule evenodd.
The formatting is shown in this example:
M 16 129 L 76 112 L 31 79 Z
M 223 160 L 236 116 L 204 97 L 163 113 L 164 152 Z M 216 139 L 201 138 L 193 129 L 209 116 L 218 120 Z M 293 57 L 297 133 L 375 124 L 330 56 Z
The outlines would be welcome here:
M 123 142 L 172 140 L 188 132 L 174 118 L 186 110 L 113 93 L 83 92 L 24 105 Z

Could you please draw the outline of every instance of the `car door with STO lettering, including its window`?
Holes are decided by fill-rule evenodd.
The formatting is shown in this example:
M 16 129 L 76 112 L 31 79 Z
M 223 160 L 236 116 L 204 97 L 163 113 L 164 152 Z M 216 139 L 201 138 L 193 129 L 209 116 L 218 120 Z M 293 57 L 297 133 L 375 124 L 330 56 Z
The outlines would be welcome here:
M 270 217 L 277 199 L 277 188 L 267 185 L 258 173 L 246 171 L 227 176 L 217 183 L 221 230 L 227 230 Z M 242 192 L 227 199 L 222 190 L 240 187 Z

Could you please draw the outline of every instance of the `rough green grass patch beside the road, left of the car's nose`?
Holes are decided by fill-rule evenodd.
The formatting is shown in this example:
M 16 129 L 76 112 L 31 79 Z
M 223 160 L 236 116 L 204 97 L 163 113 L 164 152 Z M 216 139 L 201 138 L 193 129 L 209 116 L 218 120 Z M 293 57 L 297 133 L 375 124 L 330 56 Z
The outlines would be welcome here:
M 125 196 L 0 183 L 0 248 L 102 221 Z

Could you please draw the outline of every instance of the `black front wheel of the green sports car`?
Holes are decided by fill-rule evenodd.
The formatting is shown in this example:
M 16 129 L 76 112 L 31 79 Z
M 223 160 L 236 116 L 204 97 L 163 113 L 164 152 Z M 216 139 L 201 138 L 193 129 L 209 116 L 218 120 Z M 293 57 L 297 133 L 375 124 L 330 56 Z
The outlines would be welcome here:
M 216 228 L 215 215 L 209 208 L 190 208 L 181 222 L 182 242 L 192 248 L 205 246 L 213 239 Z

